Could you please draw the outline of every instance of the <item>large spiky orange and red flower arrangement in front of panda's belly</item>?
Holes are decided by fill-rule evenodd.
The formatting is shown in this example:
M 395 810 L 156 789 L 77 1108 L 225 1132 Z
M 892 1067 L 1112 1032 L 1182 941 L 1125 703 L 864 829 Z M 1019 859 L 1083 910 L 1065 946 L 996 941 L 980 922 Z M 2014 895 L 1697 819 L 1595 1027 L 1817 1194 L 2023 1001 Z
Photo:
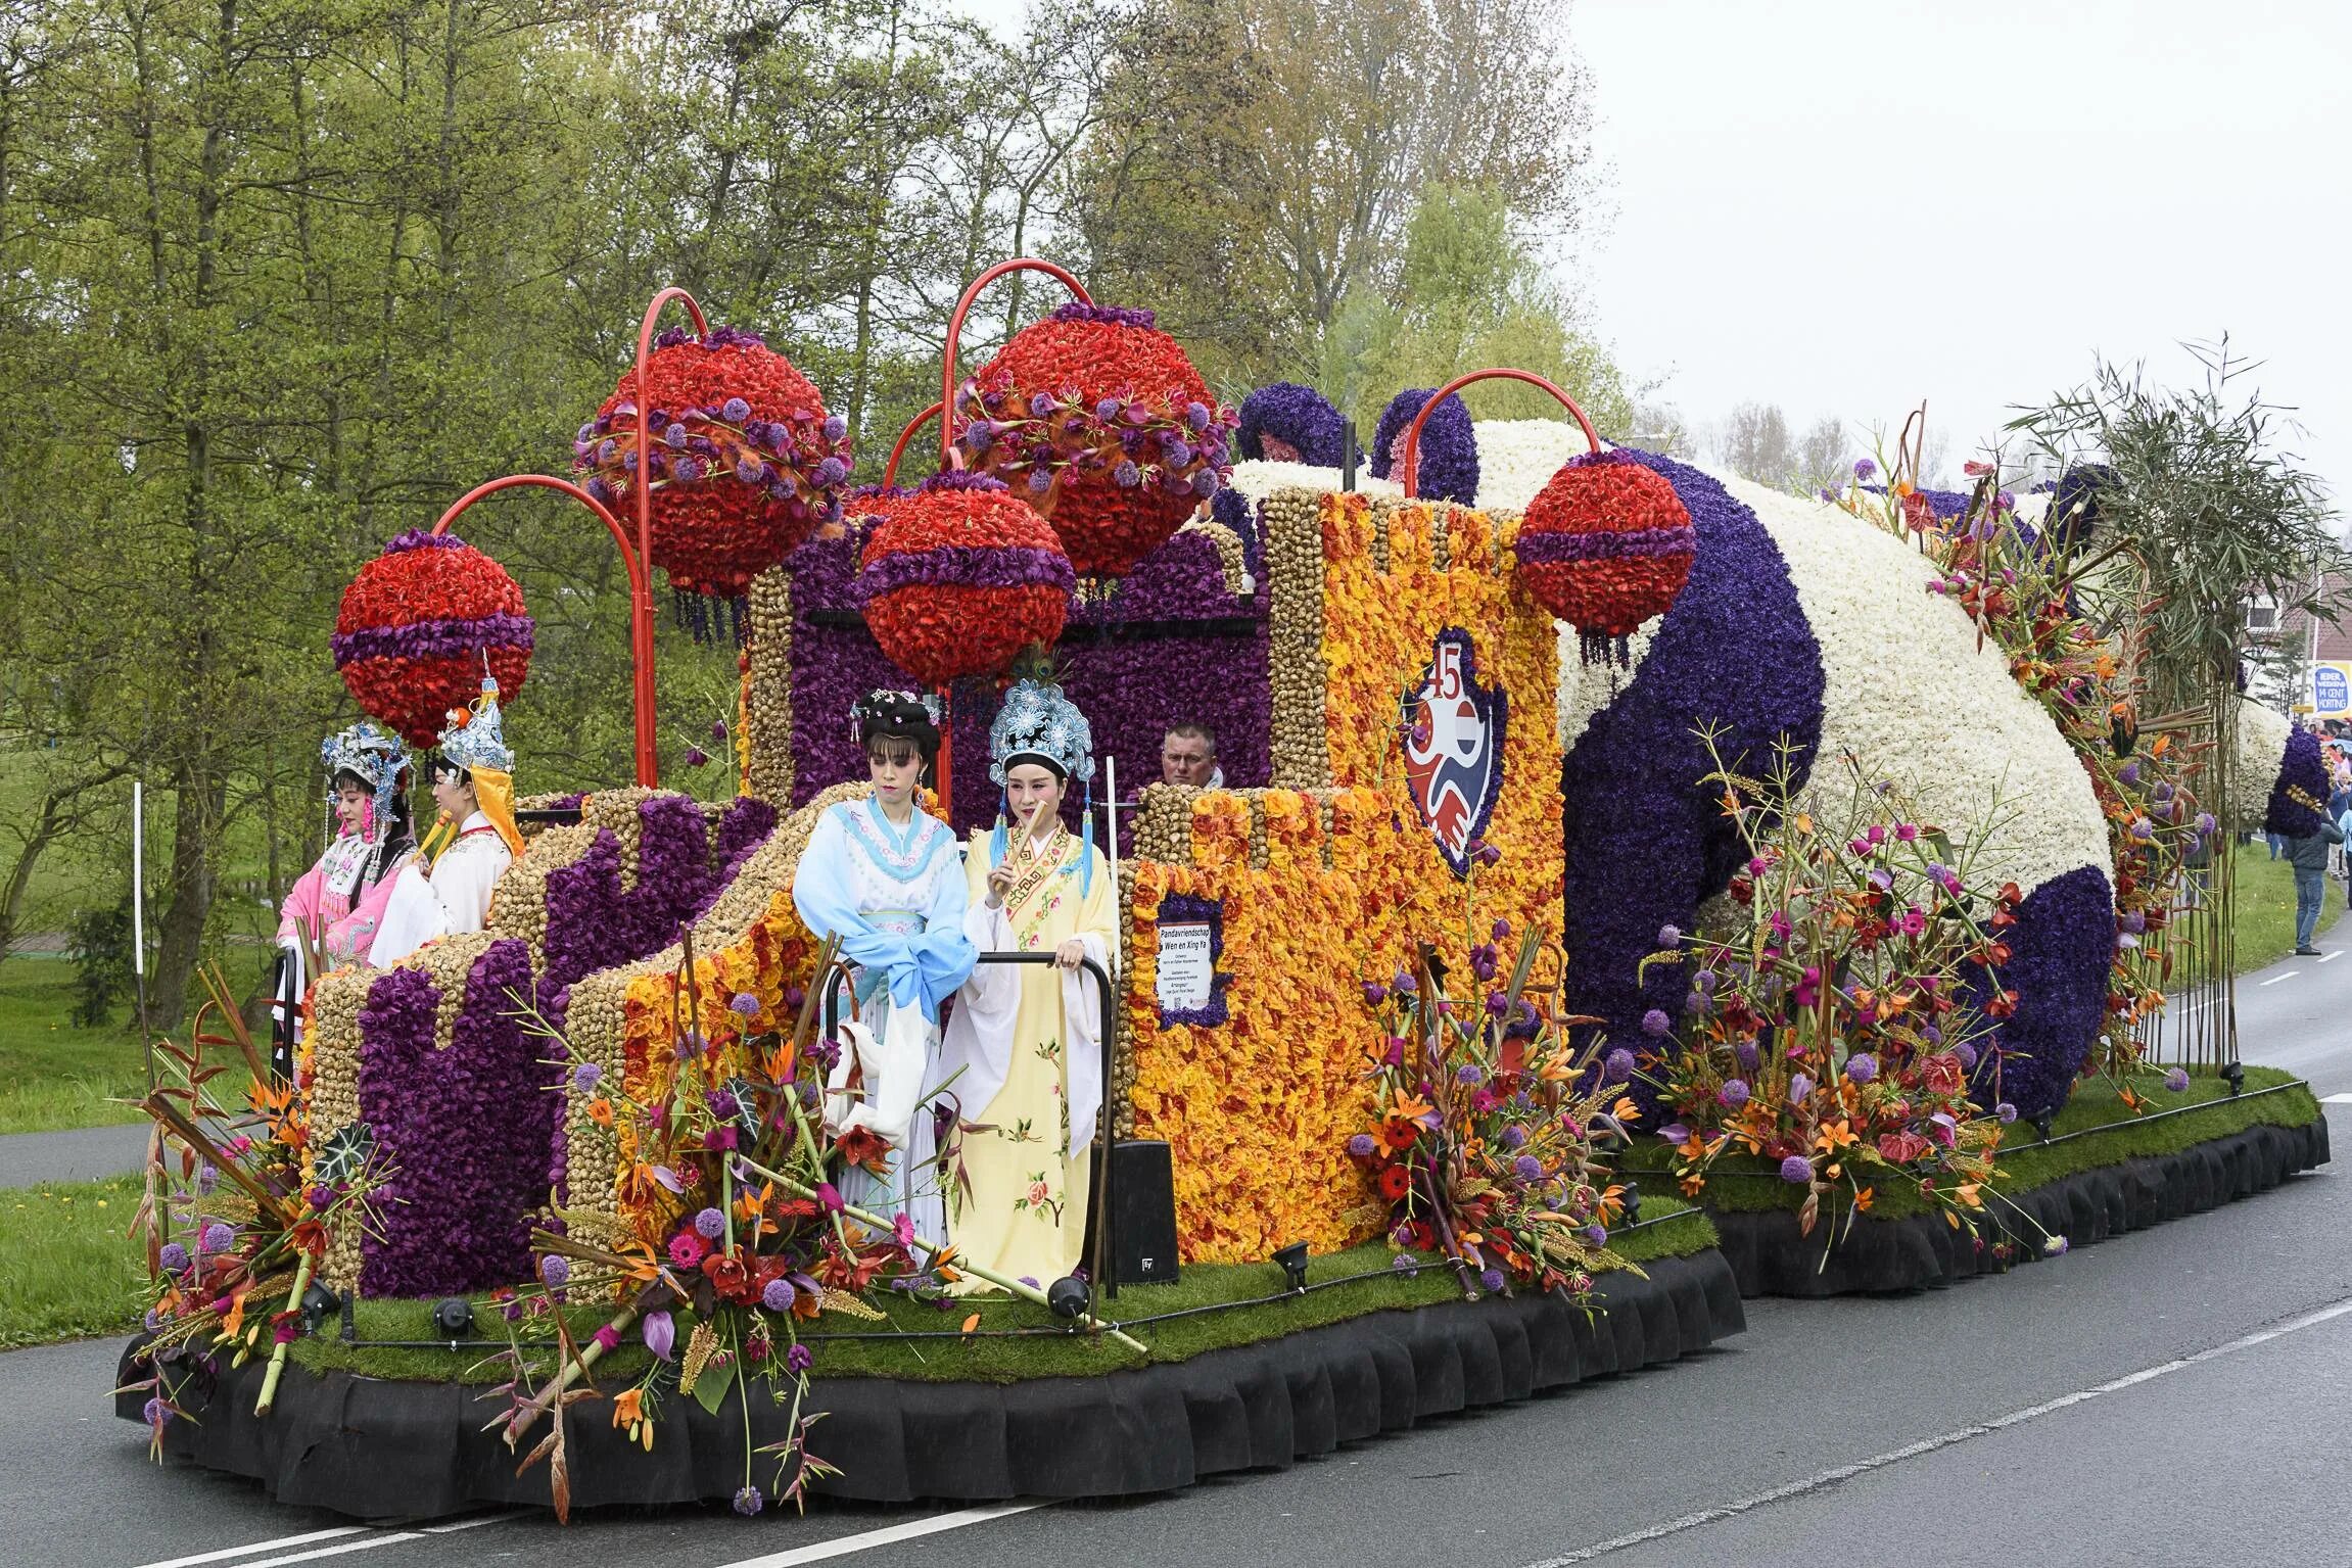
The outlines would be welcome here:
M 1717 755 L 1715 736 L 1708 750 Z M 1804 1234 L 1839 1199 L 1851 1229 L 1889 1182 L 1973 1229 L 2002 1126 L 2016 1119 L 2006 1100 L 1980 1112 L 1969 1077 L 1987 1051 L 1999 1084 L 1992 1023 L 2016 1006 L 1999 966 L 2018 893 L 1971 891 L 1964 844 L 1980 832 L 1955 846 L 1955 835 L 1915 820 L 1898 790 L 1851 762 L 1849 773 L 1832 823 L 1799 802 L 1790 748 L 1766 778 L 1743 778 L 1717 755 L 1708 783 L 1748 849 L 1731 882 L 1745 919 L 1719 936 L 1658 933 L 1644 966 L 1696 961 L 1679 1048 L 1675 1018 L 1653 1009 L 1644 1051 L 1613 1046 L 1602 1077 L 1639 1072 L 1658 1086 L 1656 1135 L 1686 1197 L 1738 1152 L 1804 1192 Z M 1992 976 L 1980 1009 L 1971 966 Z

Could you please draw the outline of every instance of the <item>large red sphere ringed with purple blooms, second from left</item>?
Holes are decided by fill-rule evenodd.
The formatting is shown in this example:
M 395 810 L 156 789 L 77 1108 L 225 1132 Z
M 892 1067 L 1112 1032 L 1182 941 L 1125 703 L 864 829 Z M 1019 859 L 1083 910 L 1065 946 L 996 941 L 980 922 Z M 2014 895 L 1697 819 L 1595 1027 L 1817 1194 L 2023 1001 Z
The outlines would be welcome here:
M 682 592 L 741 597 L 840 515 L 849 423 L 750 331 L 663 331 L 572 444 L 574 470 L 621 524 L 637 508 L 637 409 L 649 409 L 654 564 Z

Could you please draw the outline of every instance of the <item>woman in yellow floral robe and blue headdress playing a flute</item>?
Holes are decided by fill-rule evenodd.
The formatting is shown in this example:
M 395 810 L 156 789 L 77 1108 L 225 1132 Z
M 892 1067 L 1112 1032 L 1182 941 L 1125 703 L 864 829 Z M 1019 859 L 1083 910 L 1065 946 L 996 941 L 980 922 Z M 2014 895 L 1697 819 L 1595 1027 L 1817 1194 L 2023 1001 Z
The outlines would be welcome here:
M 1080 961 L 1115 973 L 1120 891 L 1094 835 L 1061 823 L 1070 780 L 1094 776 L 1087 719 L 1061 689 L 1016 682 L 990 752 L 1014 825 L 971 837 L 964 933 L 1054 964 L 981 964 L 957 994 L 941 1053 L 964 1121 L 948 1239 L 983 1269 L 1049 1286 L 1077 1267 L 1091 1222 L 1103 999 Z

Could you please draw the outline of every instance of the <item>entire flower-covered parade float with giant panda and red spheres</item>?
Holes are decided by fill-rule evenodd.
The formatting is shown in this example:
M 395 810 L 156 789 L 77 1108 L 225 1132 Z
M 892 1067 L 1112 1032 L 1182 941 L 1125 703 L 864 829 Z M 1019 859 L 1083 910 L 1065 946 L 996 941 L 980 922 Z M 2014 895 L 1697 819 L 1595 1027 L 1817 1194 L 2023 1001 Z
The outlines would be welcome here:
M 962 378 L 950 329 L 941 477 L 851 487 L 818 390 L 691 301 L 656 339 L 666 292 L 579 484 L 362 574 L 336 663 L 416 738 L 529 656 L 449 527 L 595 512 L 637 778 L 524 799 L 485 929 L 322 973 L 292 1072 L 226 990 L 169 1048 L 118 1392 L 158 1455 L 362 1516 L 1167 1490 L 2326 1159 L 2284 1074 L 2161 1070 L 2197 870 L 2288 736 L 2136 715 L 2034 543 L 2084 501 L 1806 503 L 1463 383 L 1357 475 L 1312 390 L 1223 407 L 1044 270 L 1075 301 Z M 659 788 L 652 564 L 741 632 L 731 802 Z M 1065 1279 L 844 1197 L 854 976 L 793 900 L 868 691 L 929 693 L 948 823 L 1000 816 L 1018 651 L 1091 724 L 1063 811 L 1117 891 Z M 1221 788 L 1157 783 L 1178 724 Z

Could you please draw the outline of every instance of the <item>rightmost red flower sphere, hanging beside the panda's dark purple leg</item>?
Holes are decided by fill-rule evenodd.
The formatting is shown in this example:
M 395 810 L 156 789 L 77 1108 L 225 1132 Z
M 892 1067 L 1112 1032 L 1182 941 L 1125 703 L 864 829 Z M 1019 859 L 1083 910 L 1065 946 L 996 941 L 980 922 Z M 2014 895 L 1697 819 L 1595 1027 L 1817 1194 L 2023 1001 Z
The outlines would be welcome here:
M 1519 581 L 1581 632 L 1585 663 L 1628 663 L 1625 639 L 1675 602 L 1696 550 L 1675 487 L 1625 451 L 1602 451 L 1571 458 L 1526 503 Z

